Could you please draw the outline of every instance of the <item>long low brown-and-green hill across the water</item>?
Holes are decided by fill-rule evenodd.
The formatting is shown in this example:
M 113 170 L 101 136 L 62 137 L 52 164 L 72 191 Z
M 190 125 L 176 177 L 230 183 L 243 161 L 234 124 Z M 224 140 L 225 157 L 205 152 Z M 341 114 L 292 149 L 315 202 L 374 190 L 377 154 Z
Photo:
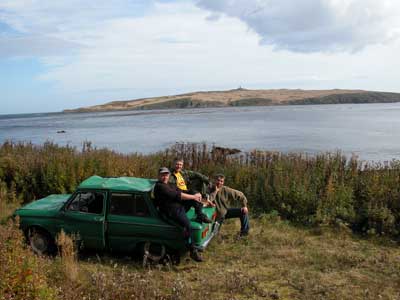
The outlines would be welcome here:
M 67 109 L 64 112 L 390 102 L 400 102 L 400 93 L 339 89 L 248 90 L 239 88 L 228 91 L 194 92 L 174 96 L 113 101 L 101 105 Z

